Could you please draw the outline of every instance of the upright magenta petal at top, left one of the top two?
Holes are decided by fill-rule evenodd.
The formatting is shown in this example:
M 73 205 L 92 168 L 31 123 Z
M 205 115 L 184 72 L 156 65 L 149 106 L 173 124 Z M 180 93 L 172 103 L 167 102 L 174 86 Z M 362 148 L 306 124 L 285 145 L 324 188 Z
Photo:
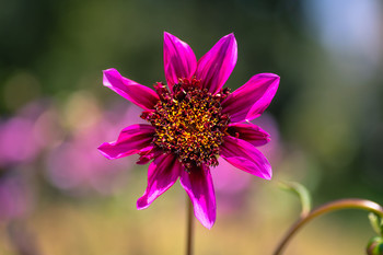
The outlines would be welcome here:
M 171 91 L 179 78 L 192 78 L 197 68 L 197 59 L 190 46 L 166 32 L 164 32 L 163 61 Z

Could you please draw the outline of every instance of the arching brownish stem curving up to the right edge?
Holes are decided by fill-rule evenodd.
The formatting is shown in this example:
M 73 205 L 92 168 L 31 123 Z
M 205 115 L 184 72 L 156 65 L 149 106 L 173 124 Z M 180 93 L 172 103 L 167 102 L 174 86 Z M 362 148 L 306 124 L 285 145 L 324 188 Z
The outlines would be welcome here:
M 348 199 L 340 199 L 340 200 L 327 202 L 312 210 L 305 217 L 301 217 L 287 232 L 282 241 L 279 243 L 277 250 L 274 252 L 274 255 L 282 254 L 283 248 L 286 247 L 288 242 L 291 240 L 291 237 L 297 233 L 297 231 L 301 227 L 303 227 L 310 220 L 321 215 L 324 215 L 330 211 L 343 210 L 343 209 L 368 210 L 383 217 L 383 208 L 374 201 L 358 199 L 358 198 L 348 198 Z

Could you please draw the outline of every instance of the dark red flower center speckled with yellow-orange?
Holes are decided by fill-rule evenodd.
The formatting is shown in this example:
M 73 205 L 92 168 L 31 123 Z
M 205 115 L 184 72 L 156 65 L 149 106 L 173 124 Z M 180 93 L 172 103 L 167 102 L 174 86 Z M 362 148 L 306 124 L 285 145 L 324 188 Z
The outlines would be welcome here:
M 201 164 L 217 166 L 229 124 L 229 116 L 221 113 L 221 102 L 229 89 L 212 95 L 201 90 L 196 79 L 179 79 L 173 93 L 163 83 L 154 88 L 160 101 L 154 112 L 141 115 L 155 127 L 153 143 L 175 154 L 187 170 Z

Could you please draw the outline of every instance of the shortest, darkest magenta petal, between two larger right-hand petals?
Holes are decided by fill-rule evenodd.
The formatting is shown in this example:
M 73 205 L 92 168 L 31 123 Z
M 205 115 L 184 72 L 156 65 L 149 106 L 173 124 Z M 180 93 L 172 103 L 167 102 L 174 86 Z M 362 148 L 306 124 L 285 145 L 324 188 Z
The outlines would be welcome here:
M 228 132 L 235 138 L 258 147 L 270 141 L 270 135 L 254 124 L 233 123 L 229 125 Z

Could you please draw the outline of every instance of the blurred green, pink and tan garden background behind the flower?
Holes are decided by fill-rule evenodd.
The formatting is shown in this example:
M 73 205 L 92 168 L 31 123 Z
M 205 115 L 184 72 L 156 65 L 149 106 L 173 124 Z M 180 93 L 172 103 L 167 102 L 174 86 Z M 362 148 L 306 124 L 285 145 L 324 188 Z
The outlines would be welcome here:
M 0 254 L 182 254 L 185 193 L 174 185 L 136 210 L 147 184 L 137 158 L 96 148 L 139 121 L 102 85 L 116 68 L 164 81 L 163 32 L 201 57 L 234 32 L 232 90 L 259 72 L 281 77 L 256 124 L 274 167 L 266 182 L 213 171 L 218 220 L 196 222 L 196 254 L 270 254 L 300 213 L 278 188 L 297 181 L 314 205 L 360 197 L 383 204 L 383 3 L 380 0 L 12 0 L 0 9 Z M 365 212 L 304 228 L 286 254 L 363 254 Z

